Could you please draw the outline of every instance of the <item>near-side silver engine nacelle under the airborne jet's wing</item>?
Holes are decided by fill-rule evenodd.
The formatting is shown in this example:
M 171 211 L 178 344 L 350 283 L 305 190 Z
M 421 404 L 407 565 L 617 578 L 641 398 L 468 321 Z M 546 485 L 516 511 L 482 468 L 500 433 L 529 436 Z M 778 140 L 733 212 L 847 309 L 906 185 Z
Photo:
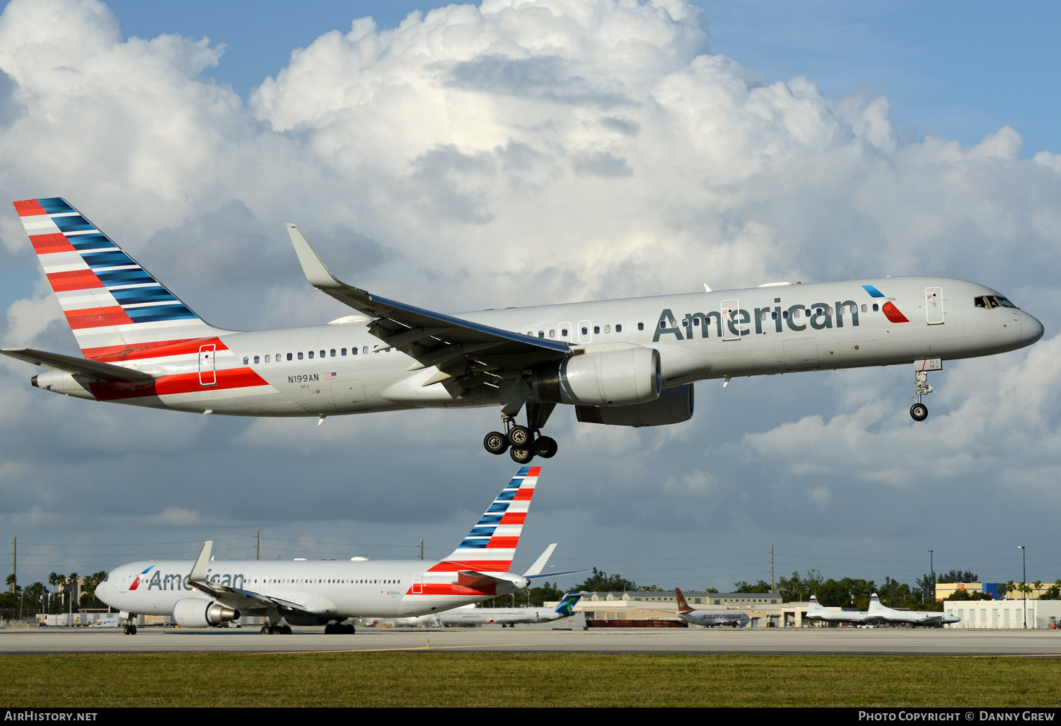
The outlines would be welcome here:
M 539 401 L 576 405 L 630 405 L 659 398 L 660 355 L 655 348 L 629 347 L 572 356 L 534 371 Z

